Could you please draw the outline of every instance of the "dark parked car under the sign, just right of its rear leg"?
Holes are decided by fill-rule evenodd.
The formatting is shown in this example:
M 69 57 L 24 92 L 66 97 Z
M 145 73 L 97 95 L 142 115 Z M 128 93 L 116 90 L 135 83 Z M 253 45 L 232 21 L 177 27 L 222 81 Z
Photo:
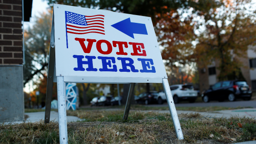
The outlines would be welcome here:
M 156 103 L 157 91 L 144 92 L 134 98 L 135 103 L 148 105 L 150 103 Z

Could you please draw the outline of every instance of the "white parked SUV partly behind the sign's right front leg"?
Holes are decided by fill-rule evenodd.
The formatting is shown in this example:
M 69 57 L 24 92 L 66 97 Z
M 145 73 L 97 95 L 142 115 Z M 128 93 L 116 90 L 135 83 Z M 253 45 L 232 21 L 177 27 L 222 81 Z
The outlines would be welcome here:
M 195 102 L 197 99 L 197 91 L 194 90 L 193 85 L 171 85 L 171 94 L 174 103 L 180 101 Z M 158 104 L 163 104 L 166 101 L 165 92 L 159 92 L 157 95 Z

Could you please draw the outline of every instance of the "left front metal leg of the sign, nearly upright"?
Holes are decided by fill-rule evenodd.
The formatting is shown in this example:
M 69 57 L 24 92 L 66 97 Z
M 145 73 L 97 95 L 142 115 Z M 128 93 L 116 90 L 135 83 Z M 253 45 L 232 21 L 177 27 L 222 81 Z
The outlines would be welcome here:
M 68 128 L 66 117 L 65 83 L 63 76 L 57 76 L 58 115 L 59 115 L 59 143 L 68 144 Z

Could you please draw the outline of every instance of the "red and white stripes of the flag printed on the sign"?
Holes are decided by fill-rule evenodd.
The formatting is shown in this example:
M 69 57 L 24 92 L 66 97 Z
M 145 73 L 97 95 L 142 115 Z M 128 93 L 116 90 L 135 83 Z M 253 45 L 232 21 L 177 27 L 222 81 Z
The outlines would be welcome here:
M 100 33 L 105 35 L 104 16 L 85 16 L 87 26 L 80 26 L 67 22 L 67 32 L 74 34 Z

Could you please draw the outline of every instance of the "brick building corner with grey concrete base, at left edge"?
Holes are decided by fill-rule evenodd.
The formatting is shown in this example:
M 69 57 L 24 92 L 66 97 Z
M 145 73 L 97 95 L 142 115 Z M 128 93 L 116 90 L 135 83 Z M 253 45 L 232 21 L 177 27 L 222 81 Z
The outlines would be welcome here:
M 32 0 L 24 1 L 29 21 Z M 0 0 L 0 122 L 24 120 L 22 0 Z

